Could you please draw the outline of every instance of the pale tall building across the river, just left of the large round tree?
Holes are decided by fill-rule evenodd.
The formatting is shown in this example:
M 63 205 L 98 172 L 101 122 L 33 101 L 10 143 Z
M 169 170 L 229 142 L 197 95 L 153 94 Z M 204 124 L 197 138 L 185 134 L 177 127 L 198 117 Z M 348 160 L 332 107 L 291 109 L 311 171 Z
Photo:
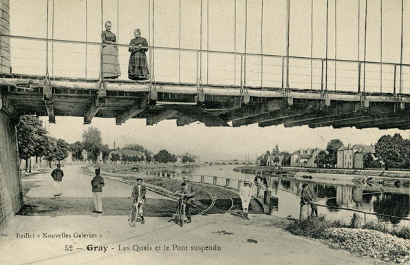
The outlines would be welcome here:
M 373 145 L 343 145 L 337 151 L 338 169 L 364 169 L 365 154 L 374 155 Z

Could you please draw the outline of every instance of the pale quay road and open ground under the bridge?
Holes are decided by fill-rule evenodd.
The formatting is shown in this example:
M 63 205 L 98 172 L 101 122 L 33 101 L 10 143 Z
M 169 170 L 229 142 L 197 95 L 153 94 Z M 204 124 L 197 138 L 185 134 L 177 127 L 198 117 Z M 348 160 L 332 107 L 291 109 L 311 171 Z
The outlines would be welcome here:
M 92 176 L 76 166 L 63 170 L 57 198 L 50 172 L 23 177 L 30 205 L 2 231 L 0 264 L 383 264 L 294 236 L 283 230 L 287 220 L 270 215 L 205 215 L 180 227 L 144 209 L 145 224 L 131 228 L 131 185 L 106 180 L 97 215 Z M 147 198 L 147 208 L 153 200 L 175 206 L 156 193 Z

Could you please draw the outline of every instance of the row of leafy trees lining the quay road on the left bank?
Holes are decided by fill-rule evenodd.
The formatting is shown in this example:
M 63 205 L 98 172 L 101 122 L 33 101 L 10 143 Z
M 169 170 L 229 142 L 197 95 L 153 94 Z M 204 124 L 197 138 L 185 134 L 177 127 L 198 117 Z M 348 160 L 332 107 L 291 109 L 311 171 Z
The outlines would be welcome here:
M 155 155 L 145 149 L 142 145 L 128 144 L 123 149 L 131 150 L 137 155 L 127 155 L 118 153 L 116 149 L 109 149 L 108 145 L 102 143 L 101 131 L 96 127 L 89 127 L 83 132 L 83 141 L 77 141 L 68 144 L 63 139 L 56 139 L 47 132 L 43 127 L 42 121 L 36 116 L 21 116 L 19 126 L 17 127 L 17 138 L 19 144 L 19 158 L 25 160 L 25 171 L 31 172 L 30 158 L 34 157 L 37 162 L 39 159 L 47 160 L 49 167 L 51 162 L 60 162 L 69 156 L 68 151 L 72 153 L 73 160 L 88 160 L 93 163 L 108 160 L 111 162 L 136 163 L 136 162 L 160 162 L 169 163 L 177 162 L 177 156 L 165 149 L 160 150 Z M 83 150 L 87 151 L 87 158 L 83 157 Z M 98 160 L 99 157 L 102 159 Z M 182 163 L 195 162 L 190 156 L 182 156 Z

